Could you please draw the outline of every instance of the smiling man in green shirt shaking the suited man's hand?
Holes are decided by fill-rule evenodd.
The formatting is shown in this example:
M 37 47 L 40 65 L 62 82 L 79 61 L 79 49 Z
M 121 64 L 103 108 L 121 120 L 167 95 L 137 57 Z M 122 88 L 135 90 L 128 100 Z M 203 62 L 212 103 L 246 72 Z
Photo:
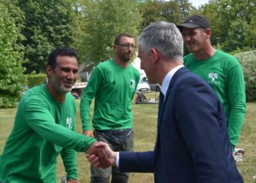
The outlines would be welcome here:
M 58 47 L 48 58 L 48 83 L 28 90 L 0 156 L 0 182 L 56 183 L 60 154 L 69 183 L 77 182 L 77 152 L 100 153 L 96 139 L 75 132 L 77 53 Z

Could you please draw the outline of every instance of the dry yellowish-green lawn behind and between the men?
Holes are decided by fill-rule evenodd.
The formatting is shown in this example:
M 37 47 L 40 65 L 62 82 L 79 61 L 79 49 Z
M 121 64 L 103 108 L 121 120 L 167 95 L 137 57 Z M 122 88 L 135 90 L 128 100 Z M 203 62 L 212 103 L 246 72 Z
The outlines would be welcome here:
M 154 98 L 154 93 L 145 93 L 147 99 Z M 77 132 L 82 132 L 82 126 L 80 123 L 80 112 L 77 113 Z M 242 128 L 241 139 L 238 147 L 246 150 L 242 163 L 237 163 L 237 167 L 244 178 L 246 183 L 255 183 L 253 176 L 256 176 L 256 102 L 248 102 L 246 104 L 246 118 L 244 120 L 244 126 Z M 93 105 L 91 106 L 91 114 Z M 0 152 L 3 150 L 6 138 L 12 130 L 14 122 L 14 115 L 16 109 L 0 109 Z M 133 104 L 134 113 L 134 150 L 145 151 L 153 150 L 154 143 L 156 141 L 156 120 L 158 113 L 157 104 Z M 62 160 L 58 159 L 57 165 L 58 180 L 65 175 Z M 84 153 L 78 153 L 78 182 L 89 182 L 90 172 L 89 163 L 87 163 Z M 154 182 L 154 175 L 152 173 L 131 173 L 129 182 Z

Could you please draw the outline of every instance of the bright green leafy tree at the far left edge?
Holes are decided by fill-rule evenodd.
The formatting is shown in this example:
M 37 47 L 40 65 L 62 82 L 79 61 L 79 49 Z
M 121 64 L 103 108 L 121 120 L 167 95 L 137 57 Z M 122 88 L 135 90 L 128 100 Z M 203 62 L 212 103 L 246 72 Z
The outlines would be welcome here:
M 25 82 L 23 52 L 14 49 L 18 37 L 6 5 L 0 3 L 0 107 L 15 107 Z

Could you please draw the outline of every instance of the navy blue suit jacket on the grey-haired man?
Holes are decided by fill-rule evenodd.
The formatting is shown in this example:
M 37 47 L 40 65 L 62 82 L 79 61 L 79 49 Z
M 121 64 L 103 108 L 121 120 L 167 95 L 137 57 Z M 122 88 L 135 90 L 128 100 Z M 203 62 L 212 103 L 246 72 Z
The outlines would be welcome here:
M 158 111 L 154 151 L 120 152 L 120 170 L 154 172 L 155 182 L 243 182 L 214 90 L 187 68 L 172 77 Z

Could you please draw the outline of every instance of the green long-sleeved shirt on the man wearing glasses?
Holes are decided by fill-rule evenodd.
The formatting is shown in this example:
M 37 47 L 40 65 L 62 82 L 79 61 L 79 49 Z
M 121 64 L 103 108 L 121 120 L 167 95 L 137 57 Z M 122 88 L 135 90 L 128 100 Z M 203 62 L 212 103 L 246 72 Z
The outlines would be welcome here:
M 131 101 L 140 73 L 129 65 L 116 65 L 113 60 L 100 63 L 87 83 L 80 101 L 82 129 L 91 130 L 90 105 L 95 99 L 93 127 L 97 130 L 132 129 L 133 113 Z

